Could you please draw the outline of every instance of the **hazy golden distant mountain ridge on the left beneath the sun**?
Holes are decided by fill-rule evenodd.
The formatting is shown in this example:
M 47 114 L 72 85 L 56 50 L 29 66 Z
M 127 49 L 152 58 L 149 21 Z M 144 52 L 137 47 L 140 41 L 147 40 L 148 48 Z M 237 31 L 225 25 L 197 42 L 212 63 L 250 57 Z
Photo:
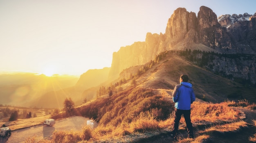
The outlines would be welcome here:
M 51 98 L 45 98 L 48 102 L 35 100 L 43 98 L 47 92 L 72 87 L 77 80 L 78 77 L 68 75 L 48 77 L 34 73 L 0 74 L 0 104 L 25 107 L 41 107 L 45 104 L 45 107 L 54 94 Z

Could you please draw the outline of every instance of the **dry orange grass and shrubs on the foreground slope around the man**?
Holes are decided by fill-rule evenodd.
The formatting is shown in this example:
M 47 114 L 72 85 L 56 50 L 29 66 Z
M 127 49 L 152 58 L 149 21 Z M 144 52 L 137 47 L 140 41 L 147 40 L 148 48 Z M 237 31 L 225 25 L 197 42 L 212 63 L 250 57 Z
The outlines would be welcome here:
M 153 89 L 127 89 L 77 109 L 80 115 L 90 115 L 91 119 L 98 119 L 97 128 L 85 127 L 79 132 L 54 132 L 49 143 L 125 143 L 135 140 L 135 134 L 171 131 L 174 107 L 171 100 L 170 95 L 163 95 Z M 228 102 L 194 102 L 191 108 L 191 121 L 197 130 L 197 136 L 195 139 L 180 137 L 180 143 L 200 143 L 208 139 L 211 132 L 236 132 L 247 126 L 246 122 L 239 120 L 239 111 L 231 108 Z M 199 129 L 200 126 L 204 128 Z M 182 118 L 180 130 L 185 127 Z

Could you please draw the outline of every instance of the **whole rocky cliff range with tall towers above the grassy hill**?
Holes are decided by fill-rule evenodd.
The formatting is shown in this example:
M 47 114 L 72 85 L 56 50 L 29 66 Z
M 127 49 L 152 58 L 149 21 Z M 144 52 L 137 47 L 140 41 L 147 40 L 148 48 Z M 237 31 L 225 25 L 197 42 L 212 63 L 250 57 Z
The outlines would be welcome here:
M 255 15 L 244 14 L 244 18 L 232 16 L 217 19 L 216 14 L 206 6 L 200 7 L 198 16 L 185 8 L 176 9 L 167 22 L 164 34 L 147 33 L 145 41 L 121 47 L 118 52 L 113 53 L 109 78 L 117 78 L 123 69 L 142 65 L 168 50 L 255 54 Z M 255 66 L 255 63 L 252 64 Z

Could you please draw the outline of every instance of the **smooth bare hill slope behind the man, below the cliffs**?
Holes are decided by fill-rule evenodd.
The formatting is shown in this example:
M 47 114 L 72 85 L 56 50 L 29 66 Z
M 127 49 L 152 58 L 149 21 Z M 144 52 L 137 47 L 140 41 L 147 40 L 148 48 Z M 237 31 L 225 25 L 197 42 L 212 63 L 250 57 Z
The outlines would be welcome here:
M 146 65 L 141 65 L 141 67 L 146 67 Z M 137 69 L 137 67 L 131 68 Z M 136 74 L 136 72 L 137 70 L 132 74 Z M 178 51 L 166 52 L 159 63 L 147 69 L 136 81 L 137 85 L 143 88 L 173 89 L 175 85 L 179 84 L 182 74 L 189 76 L 189 82 L 193 85 L 196 97 L 204 101 L 218 103 L 227 99 L 247 99 L 250 102 L 256 102 L 255 88 L 244 87 L 237 82 L 198 67 L 184 60 Z

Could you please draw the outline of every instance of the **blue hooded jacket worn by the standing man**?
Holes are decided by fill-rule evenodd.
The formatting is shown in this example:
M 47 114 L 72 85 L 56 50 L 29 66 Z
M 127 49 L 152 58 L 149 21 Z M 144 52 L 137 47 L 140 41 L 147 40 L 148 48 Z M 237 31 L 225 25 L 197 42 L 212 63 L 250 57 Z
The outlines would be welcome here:
M 173 89 L 173 102 L 175 108 L 180 110 L 190 110 L 191 104 L 195 101 L 195 93 L 192 84 L 189 82 L 181 82 Z

